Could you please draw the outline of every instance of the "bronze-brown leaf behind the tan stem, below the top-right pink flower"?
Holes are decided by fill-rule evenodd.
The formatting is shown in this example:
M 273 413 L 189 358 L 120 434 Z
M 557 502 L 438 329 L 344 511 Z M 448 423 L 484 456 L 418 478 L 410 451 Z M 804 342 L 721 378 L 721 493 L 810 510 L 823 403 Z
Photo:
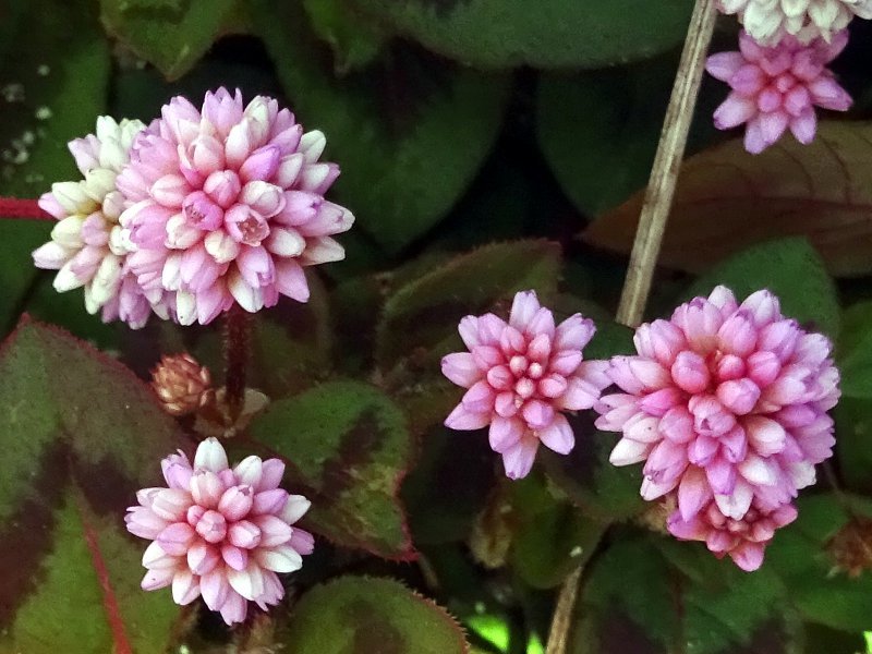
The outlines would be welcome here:
M 584 232 L 589 243 L 629 253 L 643 192 Z M 872 123 L 827 122 L 811 145 L 791 137 L 761 155 L 734 140 L 681 167 L 661 263 L 691 272 L 749 245 L 803 235 L 843 277 L 872 272 Z

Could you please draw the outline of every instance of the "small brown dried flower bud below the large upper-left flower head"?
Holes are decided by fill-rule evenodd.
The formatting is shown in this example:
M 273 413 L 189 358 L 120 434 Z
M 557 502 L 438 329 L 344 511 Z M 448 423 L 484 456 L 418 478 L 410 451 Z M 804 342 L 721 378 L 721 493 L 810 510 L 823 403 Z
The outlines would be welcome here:
M 208 368 L 190 354 L 161 356 L 152 371 L 152 388 L 172 415 L 193 413 L 215 397 Z

